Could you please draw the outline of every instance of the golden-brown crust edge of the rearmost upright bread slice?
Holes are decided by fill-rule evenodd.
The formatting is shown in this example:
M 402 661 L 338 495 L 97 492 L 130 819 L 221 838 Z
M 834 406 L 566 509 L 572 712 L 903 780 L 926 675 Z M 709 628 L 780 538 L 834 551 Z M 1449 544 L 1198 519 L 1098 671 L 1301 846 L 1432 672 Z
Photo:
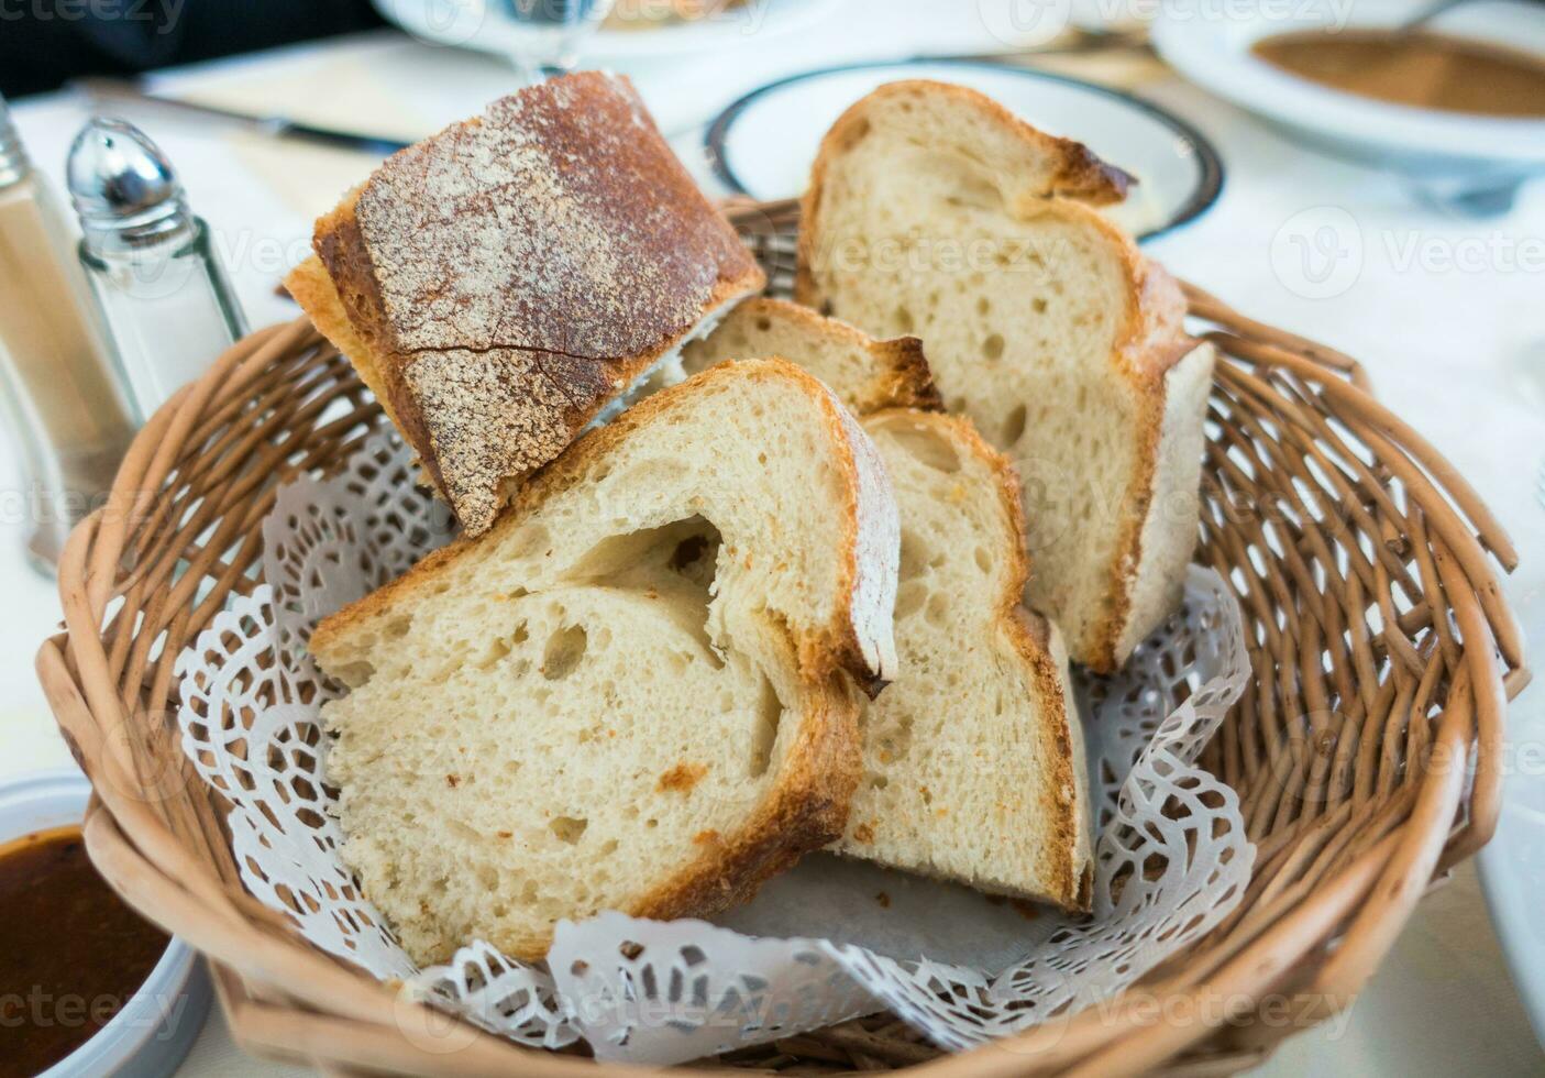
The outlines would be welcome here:
M 822 139 L 820 150 L 811 168 L 810 187 L 800 204 L 799 269 L 794 293 L 799 303 L 822 307 L 825 297 L 816 281 L 814 264 L 822 244 L 822 195 L 827 173 L 833 162 L 851 150 L 870 130 L 870 111 L 904 97 L 942 96 L 952 103 L 970 110 L 992 122 L 1024 147 L 1048 154 L 1055 165 L 1037 178 L 1034 187 L 1010 198 L 1010 210 L 1029 213 L 1058 213 L 1074 218 L 1080 225 L 1103 235 L 1109 247 L 1119 253 L 1122 270 L 1128 280 L 1126 304 L 1122 331 L 1117 334 L 1111 354 L 1112 366 L 1122 372 L 1137 403 L 1136 437 L 1139 466 L 1134 470 L 1122 505 L 1119 550 L 1109 571 L 1109 616 L 1085 639 L 1069 641 L 1072 656 L 1098 673 L 1120 667 L 1142 633 L 1153 625 L 1137 625 L 1134 615 L 1151 610 L 1134 610 L 1132 592 L 1137 578 L 1145 571 L 1143 524 L 1153 508 L 1157 480 L 1159 446 L 1165 437 L 1168 372 L 1182 357 L 1196 347 L 1196 340 L 1183 329 L 1185 298 L 1174 280 L 1156 263 L 1137 250 L 1131 236 L 1109 219 L 1097 213 L 1094 205 L 1115 202 L 1125 198 L 1129 178 L 1120 170 L 1105 165 L 1085 145 L 1069 139 L 1057 139 L 1035 130 L 1014 116 L 990 97 L 941 82 L 910 80 L 881 86 L 850 107 Z M 1194 409 L 1171 409 L 1182 412 L 1182 422 L 1191 422 Z M 1176 422 L 1171 419 L 1171 422 Z M 1194 541 L 1193 541 L 1194 542 Z

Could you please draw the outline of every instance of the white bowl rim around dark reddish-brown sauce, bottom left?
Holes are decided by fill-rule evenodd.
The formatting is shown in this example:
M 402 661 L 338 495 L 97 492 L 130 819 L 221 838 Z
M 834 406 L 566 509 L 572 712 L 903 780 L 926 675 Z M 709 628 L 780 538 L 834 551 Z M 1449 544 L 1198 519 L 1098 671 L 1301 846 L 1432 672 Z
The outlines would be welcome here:
M 0 783 L 0 843 L 80 823 L 91 783 L 73 768 Z M 209 1016 L 210 982 L 198 953 L 173 939 L 145 984 L 96 1036 L 43 1078 L 162 1078 L 182 1063 Z

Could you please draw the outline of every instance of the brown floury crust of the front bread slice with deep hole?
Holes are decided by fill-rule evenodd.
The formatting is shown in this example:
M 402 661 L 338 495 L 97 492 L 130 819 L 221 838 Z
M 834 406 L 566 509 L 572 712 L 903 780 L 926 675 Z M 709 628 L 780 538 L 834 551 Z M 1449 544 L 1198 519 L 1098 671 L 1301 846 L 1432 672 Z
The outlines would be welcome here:
M 847 825 L 848 802 L 861 777 L 861 690 L 878 692 L 896 669 L 890 612 L 895 605 L 899 530 L 890 485 L 873 443 L 822 383 L 793 363 L 774 358 L 720 364 L 644 398 L 615 422 L 592 429 L 562 457 L 538 471 L 516 491 L 488 536 L 476 542 L 462 537 L 428 554 L 403 576 L 324 618 L 309 644 L 324 670 L 329 659 L 337 666 L 343 641 L 371 632 L 379 618 L 411 604 L 420 590 L 431 592 L 440 571 L 477 544 L 493 542 L 496 536 L 519 528 L 528 513 L 579 482 L 589 466 L 623 443 L 630 431 L 667 419 L 683 395 L 723 378 L 793 383 L 819 408 L 848 491 L 842 507 L 848 520 L 847 565 L 839 588 L 845 599 L 830 625 L 810 633 L 785 625 L 799 663 L 805 714 L 774 789 L 743 828 L 734 834 L 711 836 L 695 860 L 624 911 L 633 916 L 701 916 L 743 902 L 800 854 L 839 839 Z M 516 942 L 510 953 L 535 961 L 544 958 L 545 950 L 545 942 L 539 947 Z

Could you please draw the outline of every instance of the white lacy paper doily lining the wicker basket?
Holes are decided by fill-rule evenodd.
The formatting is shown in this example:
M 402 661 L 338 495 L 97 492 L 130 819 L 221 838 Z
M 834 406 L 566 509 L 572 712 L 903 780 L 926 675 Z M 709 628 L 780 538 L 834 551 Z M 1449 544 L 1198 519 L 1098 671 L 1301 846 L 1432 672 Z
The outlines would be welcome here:
M 1094 917 L 1017 908 L 819 854 L 722 925 L 607 913 L 562 922 L 548 962 L 468 941 L 416 970 L 340 863 L 328 738 L 340 689 L 312 625 L 450 537 L 392 431 L 338 476 L 280 491 L 264 579 L 178 659 L 182 746 L 230 802 L 247 888 L 317 947 L 524 1044 L 678 1063 L 891 1009 L 963 1049 L 1120 992 L 1225 917 L 1255 848 L 1196 757 L 1250 676 L 1238 604 L 1193 567 L 1185 604 L 1114 678 L 1080 686 L 1095 805 Z M 1034 916 L 1034 919 L 1027 919 Z M 550 971 L 548 971 L 550 970 Z

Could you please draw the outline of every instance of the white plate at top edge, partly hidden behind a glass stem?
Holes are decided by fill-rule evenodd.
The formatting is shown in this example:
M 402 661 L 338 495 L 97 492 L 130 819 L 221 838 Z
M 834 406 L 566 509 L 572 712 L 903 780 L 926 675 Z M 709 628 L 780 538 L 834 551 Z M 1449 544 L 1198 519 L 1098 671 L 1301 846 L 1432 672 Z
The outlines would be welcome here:
M 493 9 L 508 0 L 374 0 L 375 9 L 414 37 L 514 56 L 519 34 Z M 839 0 L 754 0 L 709 19 L 652 29 L 598 29 L 582 39 L 581 62 L 649 60 L 709 53 L 811 29 Z

